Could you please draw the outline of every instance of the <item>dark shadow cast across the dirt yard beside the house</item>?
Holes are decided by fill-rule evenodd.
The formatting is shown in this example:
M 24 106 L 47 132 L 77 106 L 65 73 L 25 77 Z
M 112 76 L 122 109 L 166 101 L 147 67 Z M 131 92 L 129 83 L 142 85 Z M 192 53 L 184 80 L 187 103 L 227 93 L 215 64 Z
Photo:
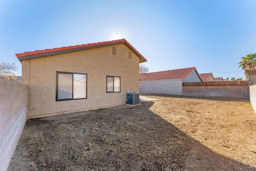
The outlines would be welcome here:
M 8 170 L 256 170 L 181 132 L 153 104 L 30 119 Z

